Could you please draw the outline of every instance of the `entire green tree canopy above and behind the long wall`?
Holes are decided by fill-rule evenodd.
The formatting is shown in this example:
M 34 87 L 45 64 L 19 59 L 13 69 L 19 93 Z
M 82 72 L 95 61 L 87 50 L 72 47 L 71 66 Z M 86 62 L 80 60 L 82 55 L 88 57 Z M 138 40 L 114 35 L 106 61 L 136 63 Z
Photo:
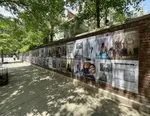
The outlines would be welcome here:
M 138 8 L 143 0 L 1 0 L 0 6 L 16 14 L 16 19 L 0 15 L 0 50 L 25 52 L 53 41 L 58 32 L 71 36 L 103 26 L 123 23 L 130 7 Z M 96 4 L 98 3 L 98 4 Z M 65 7 L 78 13 L 64 20 Z M 134 13 L 135 14 L 135 13 Z M 109 21 L 108 21 L 109 20 Z

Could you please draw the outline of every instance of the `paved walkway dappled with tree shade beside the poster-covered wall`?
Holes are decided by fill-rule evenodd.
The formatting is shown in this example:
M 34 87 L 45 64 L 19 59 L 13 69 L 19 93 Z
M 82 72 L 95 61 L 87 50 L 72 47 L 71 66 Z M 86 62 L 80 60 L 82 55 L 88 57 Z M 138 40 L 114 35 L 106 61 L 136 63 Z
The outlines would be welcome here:
M 27 63 L 7 64 L 0 116 L 142 116 L 76 80 Z

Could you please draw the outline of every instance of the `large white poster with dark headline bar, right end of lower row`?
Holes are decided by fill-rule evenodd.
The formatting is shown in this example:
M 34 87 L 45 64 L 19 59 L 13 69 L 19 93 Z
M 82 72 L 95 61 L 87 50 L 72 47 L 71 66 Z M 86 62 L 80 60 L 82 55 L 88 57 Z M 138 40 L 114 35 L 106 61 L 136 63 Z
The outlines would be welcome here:
M 138 61 L 134 60 L 115 60 L 112 85 L 116 88 L 138 93 L 138 64 Z

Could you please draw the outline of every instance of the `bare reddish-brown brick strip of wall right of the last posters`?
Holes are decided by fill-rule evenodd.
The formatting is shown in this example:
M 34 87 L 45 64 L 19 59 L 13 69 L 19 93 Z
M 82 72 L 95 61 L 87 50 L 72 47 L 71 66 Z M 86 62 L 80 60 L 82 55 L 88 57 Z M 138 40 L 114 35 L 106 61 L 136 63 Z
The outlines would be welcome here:
M 139 27 L 139 94 L 150 100 L 150 21 Z

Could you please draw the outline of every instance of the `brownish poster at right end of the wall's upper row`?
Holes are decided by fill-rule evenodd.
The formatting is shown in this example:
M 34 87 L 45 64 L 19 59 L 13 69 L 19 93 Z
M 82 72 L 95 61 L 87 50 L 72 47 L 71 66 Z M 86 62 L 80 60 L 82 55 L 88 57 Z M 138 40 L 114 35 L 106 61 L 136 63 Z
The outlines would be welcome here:
M 136 30 L 113 33 L 113 59 L 138 59 L 139 37 Z

